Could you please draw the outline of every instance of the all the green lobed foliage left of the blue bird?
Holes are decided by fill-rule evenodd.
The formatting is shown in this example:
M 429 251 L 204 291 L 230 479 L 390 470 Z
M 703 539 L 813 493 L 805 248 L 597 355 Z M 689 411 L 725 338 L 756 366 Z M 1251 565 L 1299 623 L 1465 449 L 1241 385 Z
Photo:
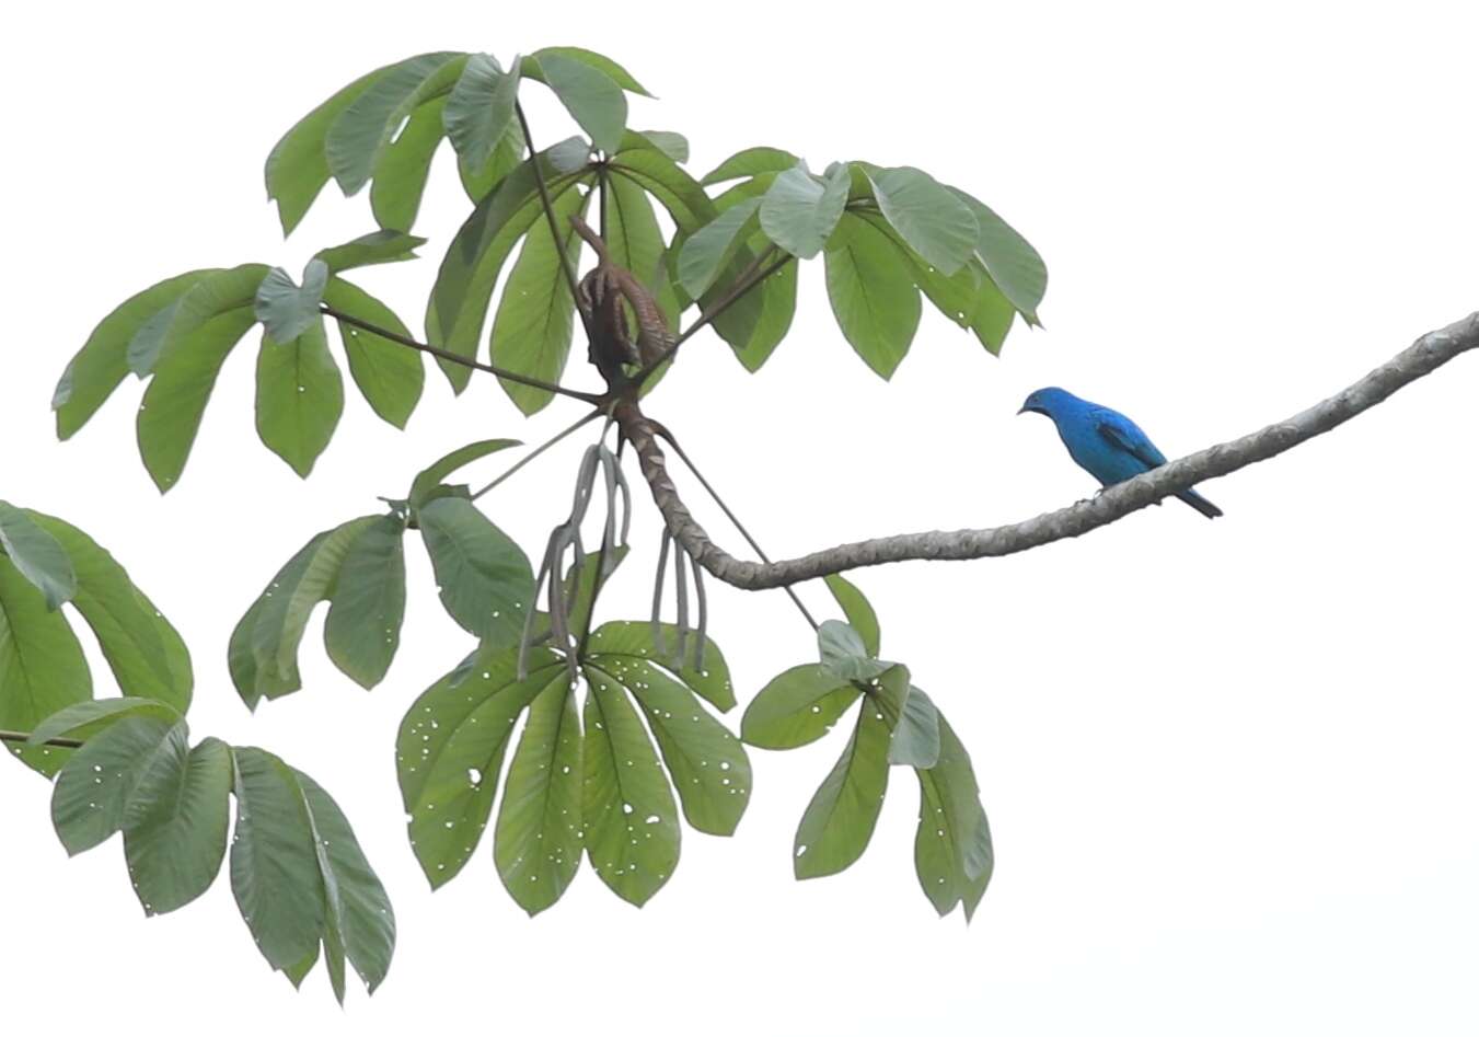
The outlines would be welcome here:
M 532 145 L 519 104 L 529 81 L 555 95 L 578 136 Z M 575 47 L 507 65 L 485 53 L 426 53 L 355 80 L 282 136 L 268 157 L 266 188 L 284 234 L 330 180 L 346 197 L 368 188 L 377 228 L 321 249 L 299 278 L 244 263 L 189 271 L 135 294 L 68 364 L 53 398 L 58 433 L 81 429 L 133 373 L 146 382 L 139 451 L 169 491 L 226 358 L 260 324 L 257 432 L 306 478 L 345 407 L 330 320 L 359 395 L 396 428 L 423 395 L 423 352 L 456 393 L 481 368 L 500 377 L 525 414 L 574 395 L 595 401 L 599 417 L 615 388 L 598 398 L 559 385 L 577 317 L 587 317 L 572 278 L 586 247 L 572 216 L 599 223 L 608 260 L 646 287 L 670 328 L 697 309 L 686 334 L 713 327 L 748 371 L 785 337 L 799 263 L 818 256 L 843 337 L 881 377 L 913 345 L 921 296 L 992 354 L 1018 317 L 1037 322 L 1047 283 L 1040 256 L 970 194 L 914 167 L 833 161 L 815 173 L 772 146 L 694 176 L 685 138 L 627 126 L 627 95 L 648 96 L 618 64 Z M 419 343 L 345 275 L 416 257 L 426 240 L 411 231 L 444 139 L 472 212 L 442 256 L 424 311 L 427 342 Z M 846 623 L 819 624 L 818 661 L 771 680 L 745 709 L 741 737 L 714 715 L 737 703 L 725 655 L 703 629 L 697 564 L 697 629 L 686 621 L 682 555 L 679 623 L 661 621 L 667 541 L 651 620 L 593 621 L 600 587 L 629 553 L 630 500 L 620 540 L 614 518 L 629 491 L 620 450 L 608 451 L 605 436 L 538 572 L 476 506 L 491 485 L 473 493 L 451 481 L 521 445 L 512 439 L 453 451 L 404 497 L 382 499 L 385 510 L 312 537 L 231 636 L 228 667 L 243 701 L 256 709 L 300 689 L 302 639 L 322 602 L 330 660 L 356 683 L 379 685 L 399 645 L 404 541 L 414 531 L 448 615 L 476 639 L 411 704 L 396 743 L 411 846 L 433 888 L 463 868 L 491 822 L 497 871 L 529 914 L 561 898 L 581 859 L 640 905 L 677 865 L 680 817 L 701 833 L 735 831 L 751 790 L 745 744 L 797 749 L 852 710 L 843 754 L 800 821 L 796 876 L 834 874 L 856 861 L 892 768 L 907 766 L 920 787 L 920 885 L 941 914 L 963 905 L 969 917 L 992 861 L 970 760 L 908 669 L 879 657 L 877 617 L 853 584 L 827 580 Z M 600 549 L 586 552 L 580 527 L 598 478 L 606 479 L 606 524 Z M 234 796 L 232 885 L 268 962 L 297 982 L 322 954 L 342 996 L 348 960 L 373 988 L 389 965 L 393 923 L 333 800 L 262 750 L 210 738 L 189 746 L 183 645 L 83 534 L 0 506 L 0 722 L 31 732 L 15 750 L 25 762 L 61 769 L 56 827 L 68 849 L 123 831 L 130 868 L 145 876 L 146 908 L 173 910 L 219 868 Z M 64 602 L 93 627 L 126 698 L 92 701 L 86 663 L 58 612 Z M 104 777 L 90 781 L 89 771 Z

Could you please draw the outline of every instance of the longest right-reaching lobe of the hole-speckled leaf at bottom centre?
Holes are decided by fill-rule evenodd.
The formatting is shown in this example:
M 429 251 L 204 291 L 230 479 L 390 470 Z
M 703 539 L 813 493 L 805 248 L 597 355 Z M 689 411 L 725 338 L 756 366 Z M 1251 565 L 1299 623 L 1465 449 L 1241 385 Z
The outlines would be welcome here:
M 595 670 L 621 685 L 646 715 L 667 765 L 683 815 L 700 831 L 734 834 L 750 803 L 750 759 L 740 741 L 698 703 L 695 692 L 645 660 L 589 655 Z

